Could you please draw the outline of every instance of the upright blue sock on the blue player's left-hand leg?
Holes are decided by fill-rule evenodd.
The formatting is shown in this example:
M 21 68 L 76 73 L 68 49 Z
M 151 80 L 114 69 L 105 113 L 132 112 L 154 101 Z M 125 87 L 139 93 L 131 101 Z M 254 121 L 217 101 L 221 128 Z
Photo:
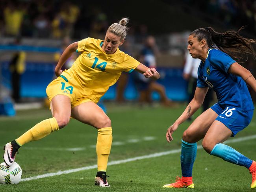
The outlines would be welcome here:
M 184 140 L 181 145 L 180 164 L 183 177 L 192 177 L 193 164 L 197 156 L 197 143 L 188 143 Z

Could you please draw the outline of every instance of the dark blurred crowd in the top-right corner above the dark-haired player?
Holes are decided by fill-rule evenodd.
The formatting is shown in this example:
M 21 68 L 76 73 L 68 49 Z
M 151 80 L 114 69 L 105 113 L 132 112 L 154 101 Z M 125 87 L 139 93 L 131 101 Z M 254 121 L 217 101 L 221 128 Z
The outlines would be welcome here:
M 247 26 L 250 33 L 256 32 L 255 0 L 182 0 L 186 6 L 207 14 L 206 20 L 217 20 L 227 28 Z

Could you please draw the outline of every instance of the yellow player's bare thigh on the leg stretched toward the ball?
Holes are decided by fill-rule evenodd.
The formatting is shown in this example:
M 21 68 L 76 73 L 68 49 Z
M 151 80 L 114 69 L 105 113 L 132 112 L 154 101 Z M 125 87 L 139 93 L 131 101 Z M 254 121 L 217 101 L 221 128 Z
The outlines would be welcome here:
M 65 95 L 56 95 L 50 103 L 52 116 L 56 118 L 59 128 L 65 127 L 70 120 L 70 98 Z

